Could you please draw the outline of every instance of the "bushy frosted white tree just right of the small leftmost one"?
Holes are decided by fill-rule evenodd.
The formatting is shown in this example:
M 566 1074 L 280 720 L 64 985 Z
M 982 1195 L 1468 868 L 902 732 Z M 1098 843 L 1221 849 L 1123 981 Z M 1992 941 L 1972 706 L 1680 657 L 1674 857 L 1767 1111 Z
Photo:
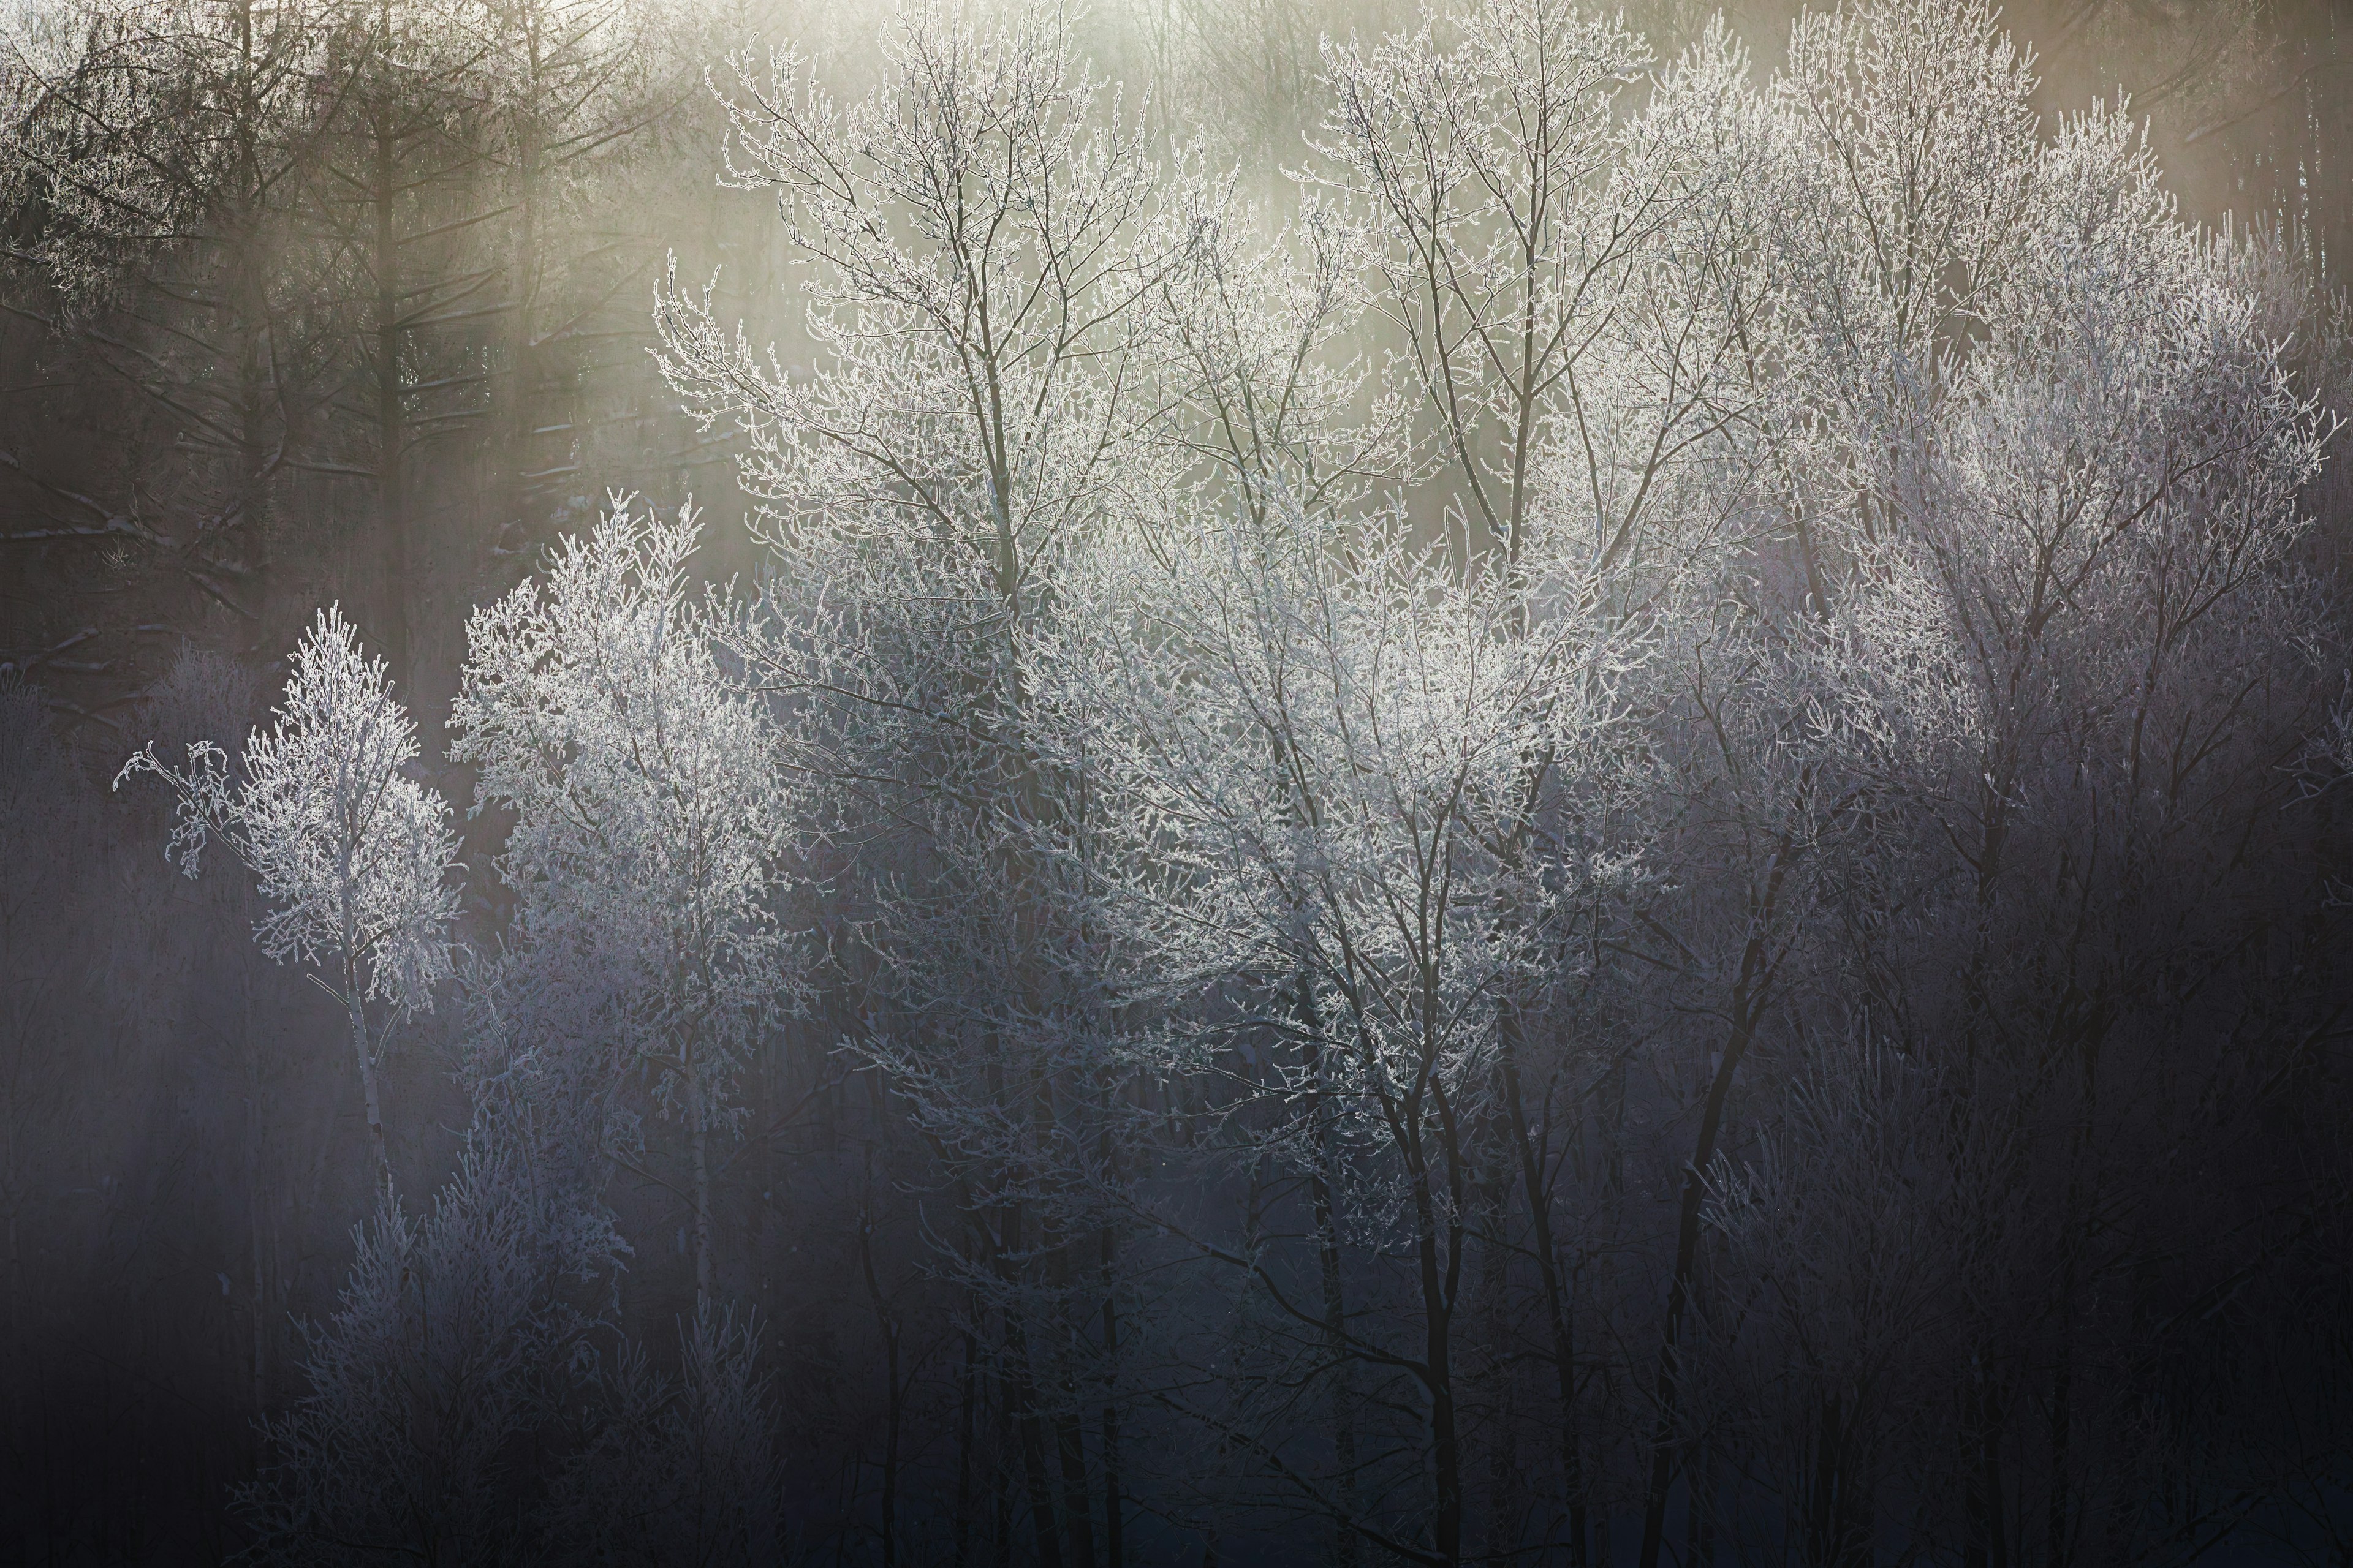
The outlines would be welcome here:
M 652 1070 L 685 1121 L 708 1295 L 713 1140 L 798 990 L 776 919 L 795 818 L 767 708 L 722 663 L 720 611 L 689 597 L 694 541 L 692 512 L 616 496 L 546 581 L 475 611 L 449 755 L 478 769 L 478 811 L 515 813 L 496 863 L 520 903 L 506 961 L 609 1006 L 572 1048 L 612 1058 L 569 1081 L 612 1095 Z

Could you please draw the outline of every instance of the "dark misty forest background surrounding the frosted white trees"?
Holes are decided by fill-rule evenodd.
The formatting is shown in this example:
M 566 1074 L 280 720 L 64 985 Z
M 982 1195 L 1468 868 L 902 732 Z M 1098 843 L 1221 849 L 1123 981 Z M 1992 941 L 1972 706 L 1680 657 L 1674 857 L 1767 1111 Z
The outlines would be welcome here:
M 468 616 L 593 527 L 607 491 L 659 512 L 692 498 L 696 578 L 758 578 L 744 433 L 682 409 L 656 364 L 654 299 L 673 266 L 715 275 L 715 317 L 776 341 L 786 364 L 809 355 L 772 193 L 718 179 L 713 82 L 734 82 L 732 52 L 793 47 L 854 96 L 887 71 L 880 9 L 19 0 L 9 14 L 0 1561 L 219 1561 L 256 1542 L 428 1563 L 2353 1561 L 2353 823 L 2313 762 L 2341 731 L 2353 644 L 2341 440 L 2299 498 L 2313 527 L 2294 569 L 2322 609 L 2299 623 L 2304 644 L 2249 665 L 2264 677 L 2240 696 L 2261 717 L 2217 752 L 2226 776 L 2186 846 L 2144 882 L 2101 884 L 2089 914 L 2061 907 L 2097 882 L 2068 863 L 2068 827 L 2021 851 L 2042 870 L 2021 872 L 1995 961 L 2021 997 L 2047 992 L 2014 997 L 2040 1056 L 1998 1088 L 2014 1119 L 2000 1159 L 1925 1152 L 1965 1143 L 1965 1117 L 1875 1048 L 1885 1020 L 1831 1039 L 1835 985 L 1760 1004 L 1748 1063 L 1713 1095 L 1725 1058 L 1706 1041 L 1725 1004 L 1701 992 L 1732 969 L 1692 959 L 1706 976 L 1687 992 L 1569 1009 L 1581 1044 L 1546 1100 L 1553 1185 L 1522 1190 L 1487 1128 L 1487 1187 L 1464 1199 L 1492 1246 L 1466 1253 L 1454 1331 L 1475 1420 L 1452 1544 L 1414 1523 L 1435 1465 L 1414 1436 L 1421 1394 L 1379 1363 L 1351 1418 L 1367 1495 L 1341 1507 L 1299 1474 L 1337 1465 L 1301 1371 L 1313 1335 L 1273 1305 L 1285 1281 L 1315 1286 L 1311 1182 L 1278 1168 L 1264 1126 L 1221 1121 L 1217 1088 L 1271 1074 L 1275 1046 L 1235 1037 L 1191 1091 L 1136 1091 L 1169 1150 L 1132 1150 L 1174 1187 L 1153 1201 L 1219 1241 L 1186 1253 L 1160 1232 L 1113 1288 L 1108 1227 L 1082 1262 L 1054 1220 L 1021 1241 L 1019 1218 L 960 1187 L 953 1133 L 911 1112 L 920 1093 L 842 1051 L 899 1001 L 854 957 L 871 910 L 814 893 L 784 919 L 833 969 L 746 1056 L 704 1314 L 694 1204 L 659 1133 L 602 1190 L 626 1258 L 562 1286 L 595 1326 L 574 1335 L 588 1349 L 546 1354 L 595 1361 L 579 1375 L 605 1425 L 576 1387 L 539 1382 L 529 1420 L 461 1432 L 529 1399 L 489 1361 L 426 1368 L 395 1446 L 426 1472 L 475 1472 L 471 1523 L 419 1523 L 421 1544 L 395 1554 L 287 1544 L 271 1535 L 282 1514 L 231 1507 L 285 1462 L 261 1420 L 318 1396 L 322 1326 L 360 1288 L 360 1227 L 381 1225 L 369 1133 L 341 1011 L 256 947 L 249 882 L 228 856 L 181 877 L 162 853 L 167 792 L 106 785 L 151 741 L 172 759 L 266 724 L 289 649 L 332 602 L 416 717 L 414 773 L 464 813 L 475 773 L 449 759 L 447 715 Z M 1727 14 L 1758 73 L 1795 9 Z M 1626 9 L 1661 56 L 1708 14 Z M 1372 0 L 1132 0 L 1071 28 L 1153 136 L 1207 136 L 1245 186 L 1280 193 L 1322 134 L 1320 40 L 1409 21 Z M 2181 212 L 2254 256 L 2299 388 L 2353 409 L 2353 12 L 2031 0 L 2002 26 L 2035 47 L 2049 113 L 2132 94 Z M 508 820 L 461 816 L 461 858 L 487 867 Z M 1680 893 L 1640 910 L 1628 896 L 1619 936 L 1645 961 L 1725 940 L 1678 926 Z M 1849 1001 L 1892 961 L 1873 947 L 1878 896 L 1868 875 L 1809 893 L 1826 936 L 1805 961 L 1866 976 Z M 478 943 L 513 914 L 487 875 L 459 898 Z M 1925 961 L 1918 945 L 1908 961 Z M 1887 985 L 1929 1013 L 1965 1006 L 1955 987 Z M 388 1159 L 426 1251 L 447 1241 L 426 1234 L 433 1215 L 456 1227 L 447 1182 L 473 1147 L 461 1067 L 480 1013 L 456 992 L 402 1027 L 384 1077 Z M 1181 1150 L 1219 1138 L 1217 1159 L 1186 1164 Z M 1720 1164 L 1675 1265 L 1694 1138 Z M 1118 1164 L 1108 1145 L 1104 1159 Z M 1939 1180 L 1946 1197 L 1925 1199 Z M 1532 1234 L 1539 1187 L 1553 1211 Z M 1005 1269 L 1045 1281 L 1028 1319 L 1031 1298 L 986 1298 L 944 1262 L 974 1213 L 1014 1227 Z M 1282 1241 L 1264 1237 L 1306 1262 L 1235 1262 L 1275 1258 Z M 1362 1246 L 1386 1258 L 1379 1237 Z M 1071 1269 L 1096 1267 L 1101 1319 L 1071 1305 Z M 1379 1338 L 1384 1291 L 1405 1276 L 1367 1269 Z M 1682 1305 L 1689 1288 L 1704 1307 Z M 1671 1293 L 1706 1321 L 1680 1349 Z M 1125 1448 L 1106 1432 L 1115 1399 L 1040 1394 L 1005 1371 L 1019 1321 L 1111 1354 L 1113 1298 L 1181 1324 L 1148 1371 L 1104 1373 L 1134 1401 Z M 1673 1373 L 1682 1399 L 1661 1408 Z M 600 1443 L 609 1469 L 565 1469 Z M 621 1523 L 595 1512 L 600 1488 L 654 1472 L 671 1479 L 616 1507 Z M 767 1502 L 746 1514 L 741 1488 Z M 518 1523 L 548 1497 L 586 1535 Z M 438 1507 L 409 1502 L 419 1519 Z M 1346 1523 L 1358 1507 L 1365 1530 Z

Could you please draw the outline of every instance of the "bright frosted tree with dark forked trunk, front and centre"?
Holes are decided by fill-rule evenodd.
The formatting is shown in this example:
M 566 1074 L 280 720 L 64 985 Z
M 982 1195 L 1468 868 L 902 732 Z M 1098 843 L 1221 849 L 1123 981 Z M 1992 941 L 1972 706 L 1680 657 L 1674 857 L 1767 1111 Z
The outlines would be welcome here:
M 1464 1554 L 1457 1314 L 1497 1006 L 1548 961 L 1546 907 L 1581 891 L 1532 886 L 1504 844 L 1529 755 L 1553 759 L 1555 804 L 1612 788 L 1624 658 L 1591 616 L 1527 632 L 1508 574 L 1449 578 L 1395 522 L 1158 538 L 1096 585 L 1111 628 L 1056 668 L 1056 696 L 1099 722 L 1096 788 L 1141 832 L 1106 879 L 1176 973 L 1247 987 L 1280 1032 L 1264 1147 L 1348 1192 L 1351 1239 L 1398 1237 L 1402 1335 L 1353 1326 L 1332 1291 L 1292 1300 L 1247 1244 L 1205 1244 L 1273 1291 L 1315 1375 L 1405 1380 L 1426 1509 L 1351 1514 L 1329 1479 L 1301 1479 L 1304 1502 L 1428 1561 Z

